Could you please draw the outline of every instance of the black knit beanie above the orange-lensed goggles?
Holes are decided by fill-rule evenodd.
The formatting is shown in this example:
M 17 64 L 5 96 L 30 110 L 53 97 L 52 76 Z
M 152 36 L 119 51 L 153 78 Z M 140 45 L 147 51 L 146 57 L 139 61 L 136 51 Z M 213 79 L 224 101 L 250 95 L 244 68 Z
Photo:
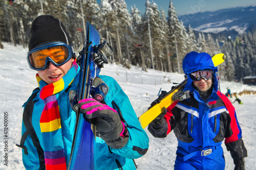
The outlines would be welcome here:
M 48 42 L 64 42 L 71 44 L 71 39 L 63 23 L 52 15 L 41 15 L 32 22 L 30 30 L 29 51 Z

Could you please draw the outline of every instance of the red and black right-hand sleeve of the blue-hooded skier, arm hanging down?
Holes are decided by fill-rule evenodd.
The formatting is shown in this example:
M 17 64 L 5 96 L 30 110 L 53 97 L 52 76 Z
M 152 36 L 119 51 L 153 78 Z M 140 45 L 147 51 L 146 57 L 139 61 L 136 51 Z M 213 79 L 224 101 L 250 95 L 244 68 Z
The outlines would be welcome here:
M 234 160 L 247 157 L 247 150 L 242 139 L 242 130 L 238 123 L 236 110 L 224 94 L 218 91 L 218 95 L 229 113 L 226 120 L 227 127 L 225 128 L 225 145 L 227 150 L 230 151 L 231 157 Z

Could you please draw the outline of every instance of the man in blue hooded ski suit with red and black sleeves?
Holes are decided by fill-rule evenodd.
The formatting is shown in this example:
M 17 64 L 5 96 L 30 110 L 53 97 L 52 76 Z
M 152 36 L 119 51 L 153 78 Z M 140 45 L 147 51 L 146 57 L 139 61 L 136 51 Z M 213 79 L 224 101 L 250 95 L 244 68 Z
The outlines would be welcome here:
M 174 130 L 178 139 L 174 169 L 224 169 L 224 138 L 235 169 L 244 169 L 247 151 L 242 131 L 234 107 L 218 91 L 218 68 L 210 55 L 197 52 L 188 53 L 182 67 L 187 76 L 184 91 L 190 91 L 190 98 L 164 108 L 148 130 L 155 137 Z

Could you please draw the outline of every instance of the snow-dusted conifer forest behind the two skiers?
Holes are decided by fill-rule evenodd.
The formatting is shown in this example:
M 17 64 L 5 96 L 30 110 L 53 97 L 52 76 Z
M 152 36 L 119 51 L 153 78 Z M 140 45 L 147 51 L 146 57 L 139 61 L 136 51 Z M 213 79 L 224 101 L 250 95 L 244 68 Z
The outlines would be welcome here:
M 39 15 L 53 15 L 69 32 L 78 54 L 84 45 L 84 27 L 89 21 L 114 49 L 109 58 L 127 68 L 131 65 L 143 70 L 153 68 L 182 73 L 182 60 L 191 52 L 206 52 L 211 56 L 224 53 L 227 59 L 219 66 L 219 77 L 227 81 L 242 81 L 256 76 L 256 31 L 232 39 L 185 28 L 170 0 L 168 13 L 149 0 L 145 13 L 134 5 L 127 9 L 124 0 L 0 0 L 0 45 L 2 41 L 22 44 L 27 48 L 33 19 Z M 131 12 L 129 12 L 131 11 Z M 220 45 L 221 44 L 221 45 Z M 25 57 L 25 56 L 24 56 Z

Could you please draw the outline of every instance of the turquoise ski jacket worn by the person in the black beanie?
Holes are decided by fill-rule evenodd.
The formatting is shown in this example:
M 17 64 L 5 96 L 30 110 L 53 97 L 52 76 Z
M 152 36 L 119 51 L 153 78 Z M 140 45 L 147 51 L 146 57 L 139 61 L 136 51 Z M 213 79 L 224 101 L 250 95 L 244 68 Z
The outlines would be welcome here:
M 121 149 L 110 148 L 104 140 L 96 137 L 95 169 L 136 169 L 136 164 L 133 159 L 139 158 L 147 152 L 149 142 L 147 134 L 140 126 L 129 98 L 118 83 L 108 76 L 99 77 L 109 86 L 109 92 L 104 98 L 105 103 L 113 108 L 112 101 L 114 101 L 118 106 L 126 122 L 130 137 L 129 141 Z M 76 78 L 77 79 L 74 80 L 68 90 L 59 93 L 62 139 L 65 146 L 67 164 L 70 158 L 76 122 L 76 113 L 72 110 L 69 102 L 69 92 L 70 90 L 77 89 L 79 75 L 77 75 Z M 38 88 L 34 90 L 29 100 L 23 106 L 25 107 L 22 125 L 23 136 L 18 146 L 24 149 L 22 154 L 26 169 L 45 169 L 44 151 L 42 151 L 40 146 L 42 135 L 39 125 L 40 115 L 44 108 L 44 101 L 39 98 L 38 91 Z M 30 106 L 26 107 L 27 105 Z M 30 126 L 25 126 L 25 124 L 30 124 Z M 26 127 L 29 128 L 26 129 Z

